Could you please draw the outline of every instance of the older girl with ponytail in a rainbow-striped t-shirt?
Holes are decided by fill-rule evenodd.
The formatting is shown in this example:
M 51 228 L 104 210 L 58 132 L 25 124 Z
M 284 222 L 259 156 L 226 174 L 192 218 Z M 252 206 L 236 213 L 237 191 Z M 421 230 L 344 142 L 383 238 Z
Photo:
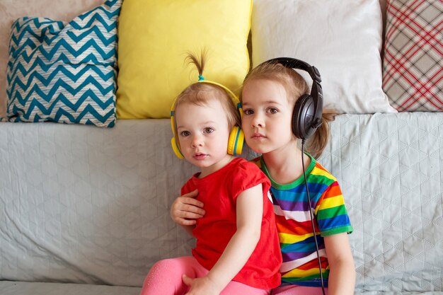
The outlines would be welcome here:
M 355 269 L 347 233 L 352 232 L 352 226 L 343 195 L 333 175 L 313 156 L 301 151 L 300 139 L 292 131 L 294 105 L 306 93 L 306 81 L 293 69 L 275 62 L 255 67 L 243 83 L 242 129 L 248 146 L 262 154 L 257 163 L 272 183 L 283 256 L 282 284 L 272 294 L 323 293 L 307 183 L 326 293 L 351 295 Z M 306 143 L 314 156 L 319 156 L 326 146 L 330 117 L 323 112 L 323 124 Z M 196 194 L 184 195 L 173 204 L 171 214 L 178 223 L 189 224 L 204 216 L 201 203 L 193 199 Z

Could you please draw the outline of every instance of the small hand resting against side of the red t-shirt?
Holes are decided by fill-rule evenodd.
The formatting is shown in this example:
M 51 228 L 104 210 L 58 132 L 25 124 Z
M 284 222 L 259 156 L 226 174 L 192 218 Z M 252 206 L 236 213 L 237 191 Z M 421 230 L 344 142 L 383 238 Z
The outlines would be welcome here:
M 180 226 L 192 226 L 205 215 L 203 203 L 195 199 L 198 190 L 178 197 L 171 207 L 171 218 Z

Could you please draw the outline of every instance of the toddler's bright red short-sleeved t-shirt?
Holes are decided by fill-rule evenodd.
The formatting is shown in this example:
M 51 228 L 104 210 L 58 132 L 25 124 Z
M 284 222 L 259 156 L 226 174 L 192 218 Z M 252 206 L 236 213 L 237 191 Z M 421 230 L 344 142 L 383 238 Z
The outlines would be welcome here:
M 204 178 L 197 178 L 198 175 L 199 173 L 195 174 L 182 187 L 182 195 L 198 189 L 197 199 L 205 204 L 206 214 L 197 219 L 192 231 L 197 239 L 192 255 L 207 270 L 212 269 L 236 232 L 238 195 L 261 183 L 263 219 L 260 240 L 246 265 L 234 277 L 234 281 L 260 289 L 279 286 L 282 255 L 272 203 L 267 197 L 270 181 L 265 174 L 254 163 L 236 158 Z

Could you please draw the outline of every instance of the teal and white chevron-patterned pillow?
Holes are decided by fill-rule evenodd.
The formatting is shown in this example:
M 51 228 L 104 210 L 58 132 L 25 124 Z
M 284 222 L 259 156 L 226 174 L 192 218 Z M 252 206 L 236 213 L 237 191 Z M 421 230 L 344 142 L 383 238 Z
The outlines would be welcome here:
M 69 23 L 16 20 L 9 40 L 3 120 L 113 127 L 121 4 L 105 1 Z

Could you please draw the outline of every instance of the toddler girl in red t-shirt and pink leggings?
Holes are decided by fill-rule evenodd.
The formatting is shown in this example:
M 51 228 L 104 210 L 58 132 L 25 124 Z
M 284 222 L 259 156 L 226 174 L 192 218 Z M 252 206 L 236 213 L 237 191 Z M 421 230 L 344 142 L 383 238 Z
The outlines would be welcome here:
M 267 197 L 270 182 L 255 164 L 231 155 L 229 134 L 240 122 L 238 98 L 203 80 L 204 57 L 189 58 L 202 81 L 176 98 L 172 141 L 178 156 L 200 168 L 182 194 L 198 190 L 206 214 L 191 226 L 183 224 L 197 240 L 192 257 L 156 262 L 141 294 L 270 294 L 280 284 L 282 262 Z

